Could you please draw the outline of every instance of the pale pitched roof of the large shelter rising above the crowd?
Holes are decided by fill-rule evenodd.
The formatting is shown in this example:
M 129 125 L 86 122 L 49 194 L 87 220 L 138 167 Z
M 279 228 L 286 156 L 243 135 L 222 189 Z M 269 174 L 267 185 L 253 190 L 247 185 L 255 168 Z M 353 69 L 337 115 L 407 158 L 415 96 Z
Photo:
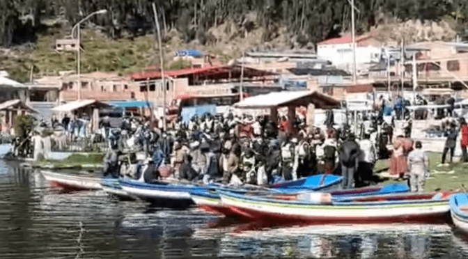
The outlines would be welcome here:
M 234 107 L 239 109 L 266 109 L 274 107 L 305 106 L 315 104 L 317 109 L 332 109 L 340 106 L 340 102 L 332 97 L 316 91 L 282 91 L 256 95 L 237 102 Z

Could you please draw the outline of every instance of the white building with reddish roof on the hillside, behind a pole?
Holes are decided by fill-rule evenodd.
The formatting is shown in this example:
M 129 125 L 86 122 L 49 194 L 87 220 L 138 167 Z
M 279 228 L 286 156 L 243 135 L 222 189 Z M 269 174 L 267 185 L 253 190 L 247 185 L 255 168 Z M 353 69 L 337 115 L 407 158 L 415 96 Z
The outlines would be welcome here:
M 356 42 L 356 65 L 357 73 L 361 74 L 368 70 L 373 63 L 379 63 L 382 53 L 382 45 L 373 36 L 357 36 Z M 347 34 L 341 38 L 331 38 L 318 42 L 317 56 L 330 61 L 336 68 L 352 72 L 352 37 Z

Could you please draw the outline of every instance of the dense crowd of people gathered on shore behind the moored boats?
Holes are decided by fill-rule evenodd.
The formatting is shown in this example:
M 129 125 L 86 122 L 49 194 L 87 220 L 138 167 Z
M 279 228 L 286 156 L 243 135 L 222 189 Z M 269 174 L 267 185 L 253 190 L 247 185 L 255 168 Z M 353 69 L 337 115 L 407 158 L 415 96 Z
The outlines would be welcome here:
M 164 132 L 158 123 L 125 118 L 120 129 L 102 128 L 112 147 L 104 175 L 267 185 L 334 173 L 343 175 L 343 188 L 370 184 L 375 141 L 368 133 L 357 139 L 350 127 L 328 124 L 309 132 L 304 118 L 297 118 L 288 131 L 285 117 L 275 125 L 267 116 L 204 114 L 188 123 L 178 120 Z

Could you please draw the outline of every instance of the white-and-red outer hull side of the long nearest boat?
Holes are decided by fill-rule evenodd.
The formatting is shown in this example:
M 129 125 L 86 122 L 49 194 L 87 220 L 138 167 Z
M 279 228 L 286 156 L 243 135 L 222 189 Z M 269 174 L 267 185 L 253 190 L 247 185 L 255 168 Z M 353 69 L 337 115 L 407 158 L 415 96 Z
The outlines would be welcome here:
M 250 219 L 306 221 L 308 223 L 394 223 L 446 221 L 448 201 L 402 203 L 299 204 L 245 200 L 221 194 L 221 201 L 233 212 Z

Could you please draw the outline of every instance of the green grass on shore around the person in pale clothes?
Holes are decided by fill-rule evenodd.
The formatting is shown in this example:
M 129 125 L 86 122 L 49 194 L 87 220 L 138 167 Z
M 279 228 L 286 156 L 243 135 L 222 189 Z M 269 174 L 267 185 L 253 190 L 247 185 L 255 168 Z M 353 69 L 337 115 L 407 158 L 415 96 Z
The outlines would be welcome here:
M 468 164 L 453 162 L 448 166 L 440 166 L 442 155 L 439 153 L 429 154 L 430 178 L 426 180 L 426 191 L 460 189 L 462 185 L 468 184 Z M 458 160 L 458 159 L 457 159 Z M 388 159 L 380 160 L 375 164 L 377 175 L 385 174 L 389 170 Z M 384 178 L 382 183 L 401 182 L 391 178 Z M 465 187 L 468 189 L 468 186 Z

